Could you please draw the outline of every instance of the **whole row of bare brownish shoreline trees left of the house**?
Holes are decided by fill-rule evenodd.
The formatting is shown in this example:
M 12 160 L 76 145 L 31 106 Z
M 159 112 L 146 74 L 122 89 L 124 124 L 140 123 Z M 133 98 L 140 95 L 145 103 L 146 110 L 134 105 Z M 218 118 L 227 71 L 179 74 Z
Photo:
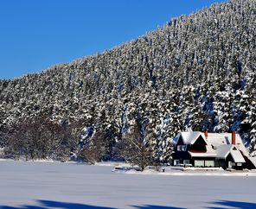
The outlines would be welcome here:
M 55 123 L 48 117 L 29 118 L 1 130 L 0 157 L 14 160 L 128 161 L 144 169 L 163 163 L 149 143 L 148 120 L 135 116 L 131 131 L 115 141 L 98 128 L 81 124 Z M 113 134 L 113 133 L 112 133 Z M 170 150 L 171 151 L 171 150 Z M 171 152 L 170 152 L 171 153 Z M 166 161 L 165 161 L 166 162 Z

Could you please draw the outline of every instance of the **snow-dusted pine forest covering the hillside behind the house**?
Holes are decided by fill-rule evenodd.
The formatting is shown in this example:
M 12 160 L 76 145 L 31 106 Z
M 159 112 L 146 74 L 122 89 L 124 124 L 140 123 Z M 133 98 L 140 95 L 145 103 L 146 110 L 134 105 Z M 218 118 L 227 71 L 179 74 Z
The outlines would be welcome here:
M 253 152 L 255 37 L 256 1 L 231 0 L 104 53 L 2 79 L 1 155 L 168 162 L 180 130 L 236 130 Z

